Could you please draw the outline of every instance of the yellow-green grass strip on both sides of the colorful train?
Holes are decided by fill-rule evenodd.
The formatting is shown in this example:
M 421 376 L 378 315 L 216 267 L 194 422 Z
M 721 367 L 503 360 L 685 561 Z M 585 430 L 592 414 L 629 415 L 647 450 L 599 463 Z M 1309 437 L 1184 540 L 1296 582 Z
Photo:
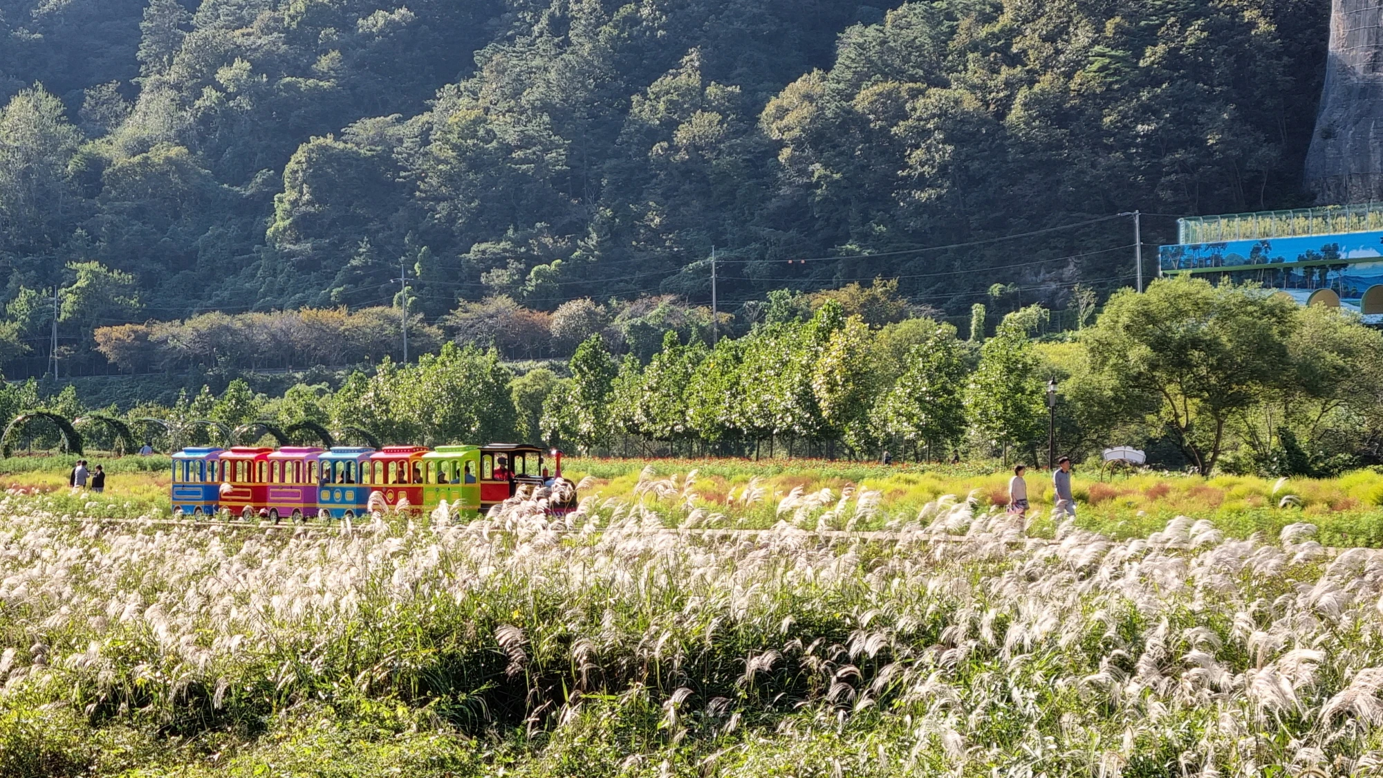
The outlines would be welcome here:
M 71 494 L 66 473 L 76 457 L 11 457 L 0 460 L 0 489 L 39 490 L 59 515 L 130 518 L 169 515 L 167 457 L 106 457 L 90 454 L 109 473 L 106 494 Z M 668 525 L 689 519 L 697 526 L 768 529 L 797 512 L 780 512 L 784 497 L 799 489 L 823 504 L 797 523 L 817 526 L 815 518 L 833 508 L 842 494 L 853 494 L 827 518 L 833 529 L 888 529 L 914 522 L 925 505 L 952 494 L 972 497 L 982 507 L 1007 503 L 1008 471 L 981 465 L 907 465 L 824 460 L 564 460 L 566 475 L 589 476 L 584 497 L 640 503 Z M 644 472 L 653 473 L 646 478 Z M 690 487 L 687 475 L 694 473 Z M 1253 476 L 1202 479 L 1177 473 L 1137 473 L 1099 480 L 1077 469 L 1073 490 L 1077 526 L 1111 537 L 1144 537 L 1177 516 L 1210 519 L 1232 537 L 1261 532 L 1277 537 L 1282 527 L 1310 522 L 1326 545 L 1383 548 L 1383 475 L 1361 469 L 1333 479 L 1285 482 Z M 644 489 L 656 483 L 660 489 Z M 1048 472 L 1028 472 L 1032 501 L 1029 532 L 1051 537 L 1051 482 Z M 762 490 L 745 501 L 750 489 Z M 830 505 L 826 494 L 830 490 Z M 636 494 L 639 493 L 639 494 Z M 857 497 L 877 494 L 877 504 L 860 511 Z M 660 494 L 662 494 L 660 497 Z M 1283 498 L 1286 501 L 1283 503 Z

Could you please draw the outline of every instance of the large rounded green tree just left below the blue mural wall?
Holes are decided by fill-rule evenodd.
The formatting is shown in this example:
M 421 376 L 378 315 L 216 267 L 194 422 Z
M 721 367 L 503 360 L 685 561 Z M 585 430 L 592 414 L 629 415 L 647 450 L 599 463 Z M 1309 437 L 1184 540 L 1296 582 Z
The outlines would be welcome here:
M 1111 296 L 1086 343 L 1095 372 L 1159 399 L 1159 424 L 1207 476 L 1231 417 L 1290 377 L 1294 327 L 1294 303 L 1261 288 L 1159 278 Z

